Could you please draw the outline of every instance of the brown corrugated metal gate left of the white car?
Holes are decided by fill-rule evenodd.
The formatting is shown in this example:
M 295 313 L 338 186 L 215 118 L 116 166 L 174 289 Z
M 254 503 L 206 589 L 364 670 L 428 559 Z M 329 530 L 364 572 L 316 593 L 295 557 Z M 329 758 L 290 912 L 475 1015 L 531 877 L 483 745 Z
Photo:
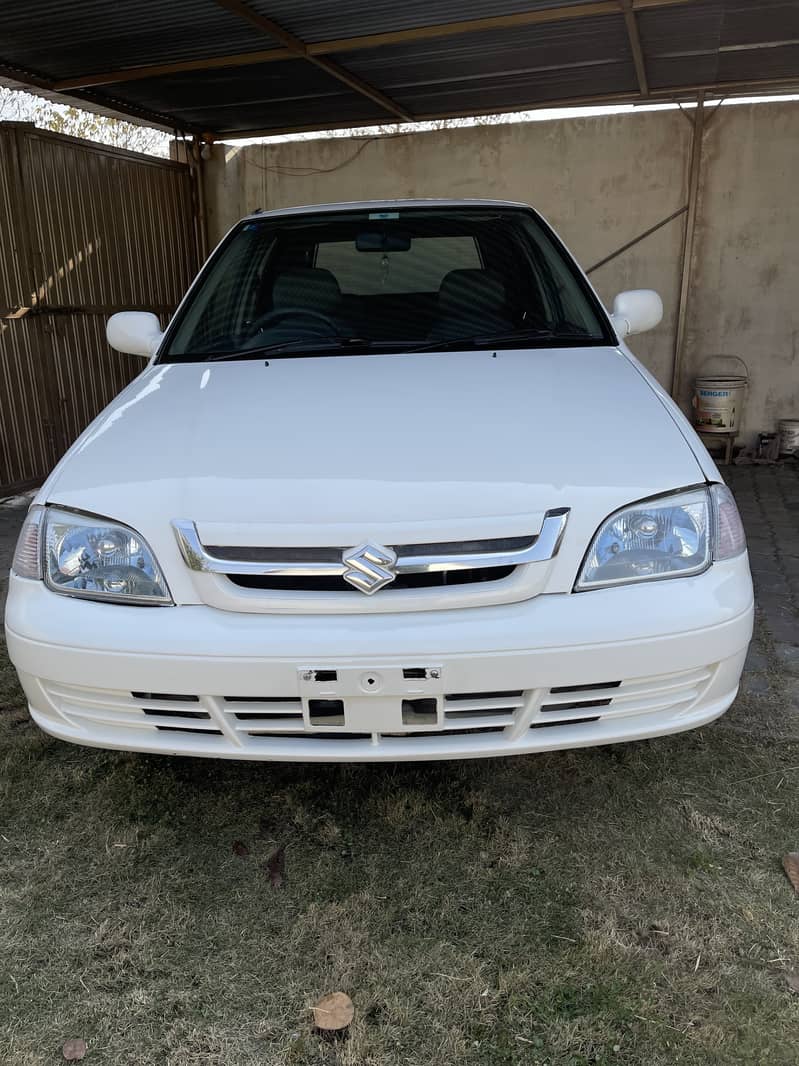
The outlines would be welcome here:
M 0 123 L 0 495 L 40 482 L 142 370 L 118 310 L 165 322 L 197 271 L 183 163 Z

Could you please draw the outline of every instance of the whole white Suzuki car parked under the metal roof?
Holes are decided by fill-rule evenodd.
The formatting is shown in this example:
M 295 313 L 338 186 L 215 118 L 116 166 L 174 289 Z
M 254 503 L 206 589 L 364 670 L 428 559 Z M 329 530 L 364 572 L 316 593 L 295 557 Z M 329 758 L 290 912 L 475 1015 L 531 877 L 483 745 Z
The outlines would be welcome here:
M 230 759 L 519 755 L 735 697 L 735 503 L 528 207 L 255 213 L 38 492 L 11 658 L 62 740 Z

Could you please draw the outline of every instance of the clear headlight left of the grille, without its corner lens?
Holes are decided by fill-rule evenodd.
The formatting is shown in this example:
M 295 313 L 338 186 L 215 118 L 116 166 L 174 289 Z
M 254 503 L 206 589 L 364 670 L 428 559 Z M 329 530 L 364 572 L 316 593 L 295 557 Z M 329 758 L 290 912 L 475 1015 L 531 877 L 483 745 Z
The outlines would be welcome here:
M 116 603 L 172 603 L 156 556 L 127 526 L 47 507 L 42 530 L 44 579 L 53 592 Z

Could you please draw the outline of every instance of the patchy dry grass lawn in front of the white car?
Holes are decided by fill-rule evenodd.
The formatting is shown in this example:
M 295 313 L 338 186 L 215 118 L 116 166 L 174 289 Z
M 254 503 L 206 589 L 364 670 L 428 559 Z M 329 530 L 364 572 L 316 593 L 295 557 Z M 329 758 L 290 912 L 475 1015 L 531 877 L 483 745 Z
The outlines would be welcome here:
M 748 726 L 778 698 L 615 748 L 226 763 L 47 738 L 0 646 L 0 1063 L 795 1066 L 799 744 Z

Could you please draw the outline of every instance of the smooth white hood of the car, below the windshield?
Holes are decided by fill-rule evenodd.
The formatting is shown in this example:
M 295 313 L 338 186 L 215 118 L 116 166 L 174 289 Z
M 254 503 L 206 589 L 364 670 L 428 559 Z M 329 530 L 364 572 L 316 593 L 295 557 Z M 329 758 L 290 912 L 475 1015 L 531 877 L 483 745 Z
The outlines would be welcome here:
M 190 518 L 211 544 L 346 545 L 592 522 L 703 480 L 631 359 L 588 348 L 152 366 L 44 495 L 157 539 Z

